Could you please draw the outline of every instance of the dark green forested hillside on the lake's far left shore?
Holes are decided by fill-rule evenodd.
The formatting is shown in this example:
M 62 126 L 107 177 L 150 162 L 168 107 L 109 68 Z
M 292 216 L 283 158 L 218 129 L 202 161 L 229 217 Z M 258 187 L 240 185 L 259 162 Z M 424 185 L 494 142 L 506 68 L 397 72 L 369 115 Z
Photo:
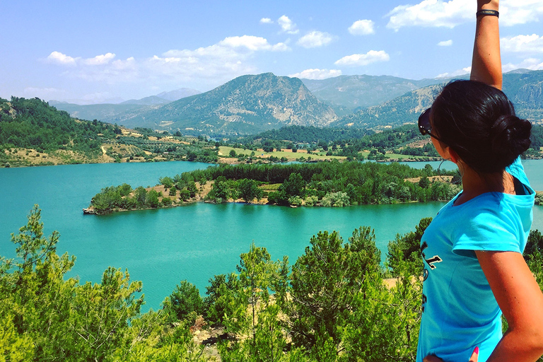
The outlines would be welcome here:
M 198 160 L 216 162 L 204 137 L 71 118 L 38 99 L 0 99 L 0 166 Z

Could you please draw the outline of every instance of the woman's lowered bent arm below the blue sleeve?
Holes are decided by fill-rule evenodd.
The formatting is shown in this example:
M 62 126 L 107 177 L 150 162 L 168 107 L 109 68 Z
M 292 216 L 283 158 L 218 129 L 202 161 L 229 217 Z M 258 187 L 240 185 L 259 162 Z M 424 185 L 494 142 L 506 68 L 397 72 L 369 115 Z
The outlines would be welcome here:
M 508 322 L 487 362 L 533 362 L 543 355 L 543 293 L 518 252 L 476 251 Z

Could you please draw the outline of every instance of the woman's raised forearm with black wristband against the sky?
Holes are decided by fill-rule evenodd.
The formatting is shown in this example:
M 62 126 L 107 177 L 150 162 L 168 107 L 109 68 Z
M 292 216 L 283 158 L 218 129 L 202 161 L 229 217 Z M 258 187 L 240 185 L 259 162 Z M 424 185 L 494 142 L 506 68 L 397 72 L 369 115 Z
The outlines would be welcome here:
M 477 11 L 498 11 L 498 8 L 498 0 L 477 0 Z M 472 57 L 472 73 L 469 78 L 472 79 L 472 81 L 481 81 L 501 89 L 500 32 L 497 16 L 477 16 L 477 28 L 475 29 L 475 42 Z

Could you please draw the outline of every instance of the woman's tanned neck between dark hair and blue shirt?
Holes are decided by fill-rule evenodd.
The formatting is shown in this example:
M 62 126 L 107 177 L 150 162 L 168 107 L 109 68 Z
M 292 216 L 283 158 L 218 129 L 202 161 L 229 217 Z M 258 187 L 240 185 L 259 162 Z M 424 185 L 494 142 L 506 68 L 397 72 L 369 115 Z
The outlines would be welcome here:
M 497 173 L 479 174 L 462 163 L 458 163 L 458 168 L 462 174 L 463 191 L 455 201 L 455 205 L 463 204 L 486 192 L 515 194 L 513 176 L 506 170 Z

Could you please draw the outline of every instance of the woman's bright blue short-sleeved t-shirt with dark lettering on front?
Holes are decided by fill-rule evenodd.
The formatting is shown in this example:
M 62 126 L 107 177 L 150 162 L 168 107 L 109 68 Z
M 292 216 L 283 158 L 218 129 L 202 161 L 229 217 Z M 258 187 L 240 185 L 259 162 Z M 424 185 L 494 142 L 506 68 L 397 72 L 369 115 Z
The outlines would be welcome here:
M 467 362 L 479 346 L 486 361 L 501 334 L 501 310 L 474 250 L 524 250 L 532 226 L 535 192 L 520 163 L 506 168 L 525 194 L 487 192 L 443 206 L 421 238 L 424 286 L 416 361 L 428 354 L 445 362 Z

